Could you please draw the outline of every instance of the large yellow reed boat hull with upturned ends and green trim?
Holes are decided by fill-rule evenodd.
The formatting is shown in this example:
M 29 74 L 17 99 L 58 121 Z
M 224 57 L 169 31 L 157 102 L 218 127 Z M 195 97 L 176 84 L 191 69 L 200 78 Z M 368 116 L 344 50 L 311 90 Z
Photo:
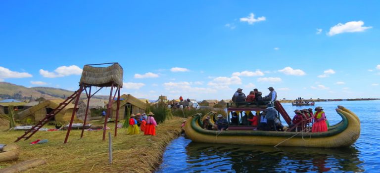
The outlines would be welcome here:
M 202 129 L 201 114 L 191 116 L 184 129 L 186 135 L 195 142 L 321 148 L 350 146 L 360 135 L 359 118 L 343 106 L 335 110 L 342 120 L 326 132 L 205 130 Z M 215 114 L 211 120 L 215 122 Z

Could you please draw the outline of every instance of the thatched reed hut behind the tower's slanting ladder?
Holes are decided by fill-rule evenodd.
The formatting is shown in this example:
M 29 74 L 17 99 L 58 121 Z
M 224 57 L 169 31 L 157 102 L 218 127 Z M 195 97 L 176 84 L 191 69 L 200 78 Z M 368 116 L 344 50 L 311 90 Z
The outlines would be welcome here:
M 38 105 L 32 106 L 24 111 L 17 113 L 16 118 L 21 122 L 26 122 L 27 119 L 31 119 L 34 122 L 40 121 L 46 117 L 48 113 L 54 110 L 64 99 L 54 99 L 46 100 Z M 71 115 L 74 111 L 74 104 L 69 103 L 64 109 L 62 109 L 57 115 L 55 115 L 54 120 L 56 122 L 66 122 L 70 121 Z M 74 117 L 76 119 L 76 117 Z

